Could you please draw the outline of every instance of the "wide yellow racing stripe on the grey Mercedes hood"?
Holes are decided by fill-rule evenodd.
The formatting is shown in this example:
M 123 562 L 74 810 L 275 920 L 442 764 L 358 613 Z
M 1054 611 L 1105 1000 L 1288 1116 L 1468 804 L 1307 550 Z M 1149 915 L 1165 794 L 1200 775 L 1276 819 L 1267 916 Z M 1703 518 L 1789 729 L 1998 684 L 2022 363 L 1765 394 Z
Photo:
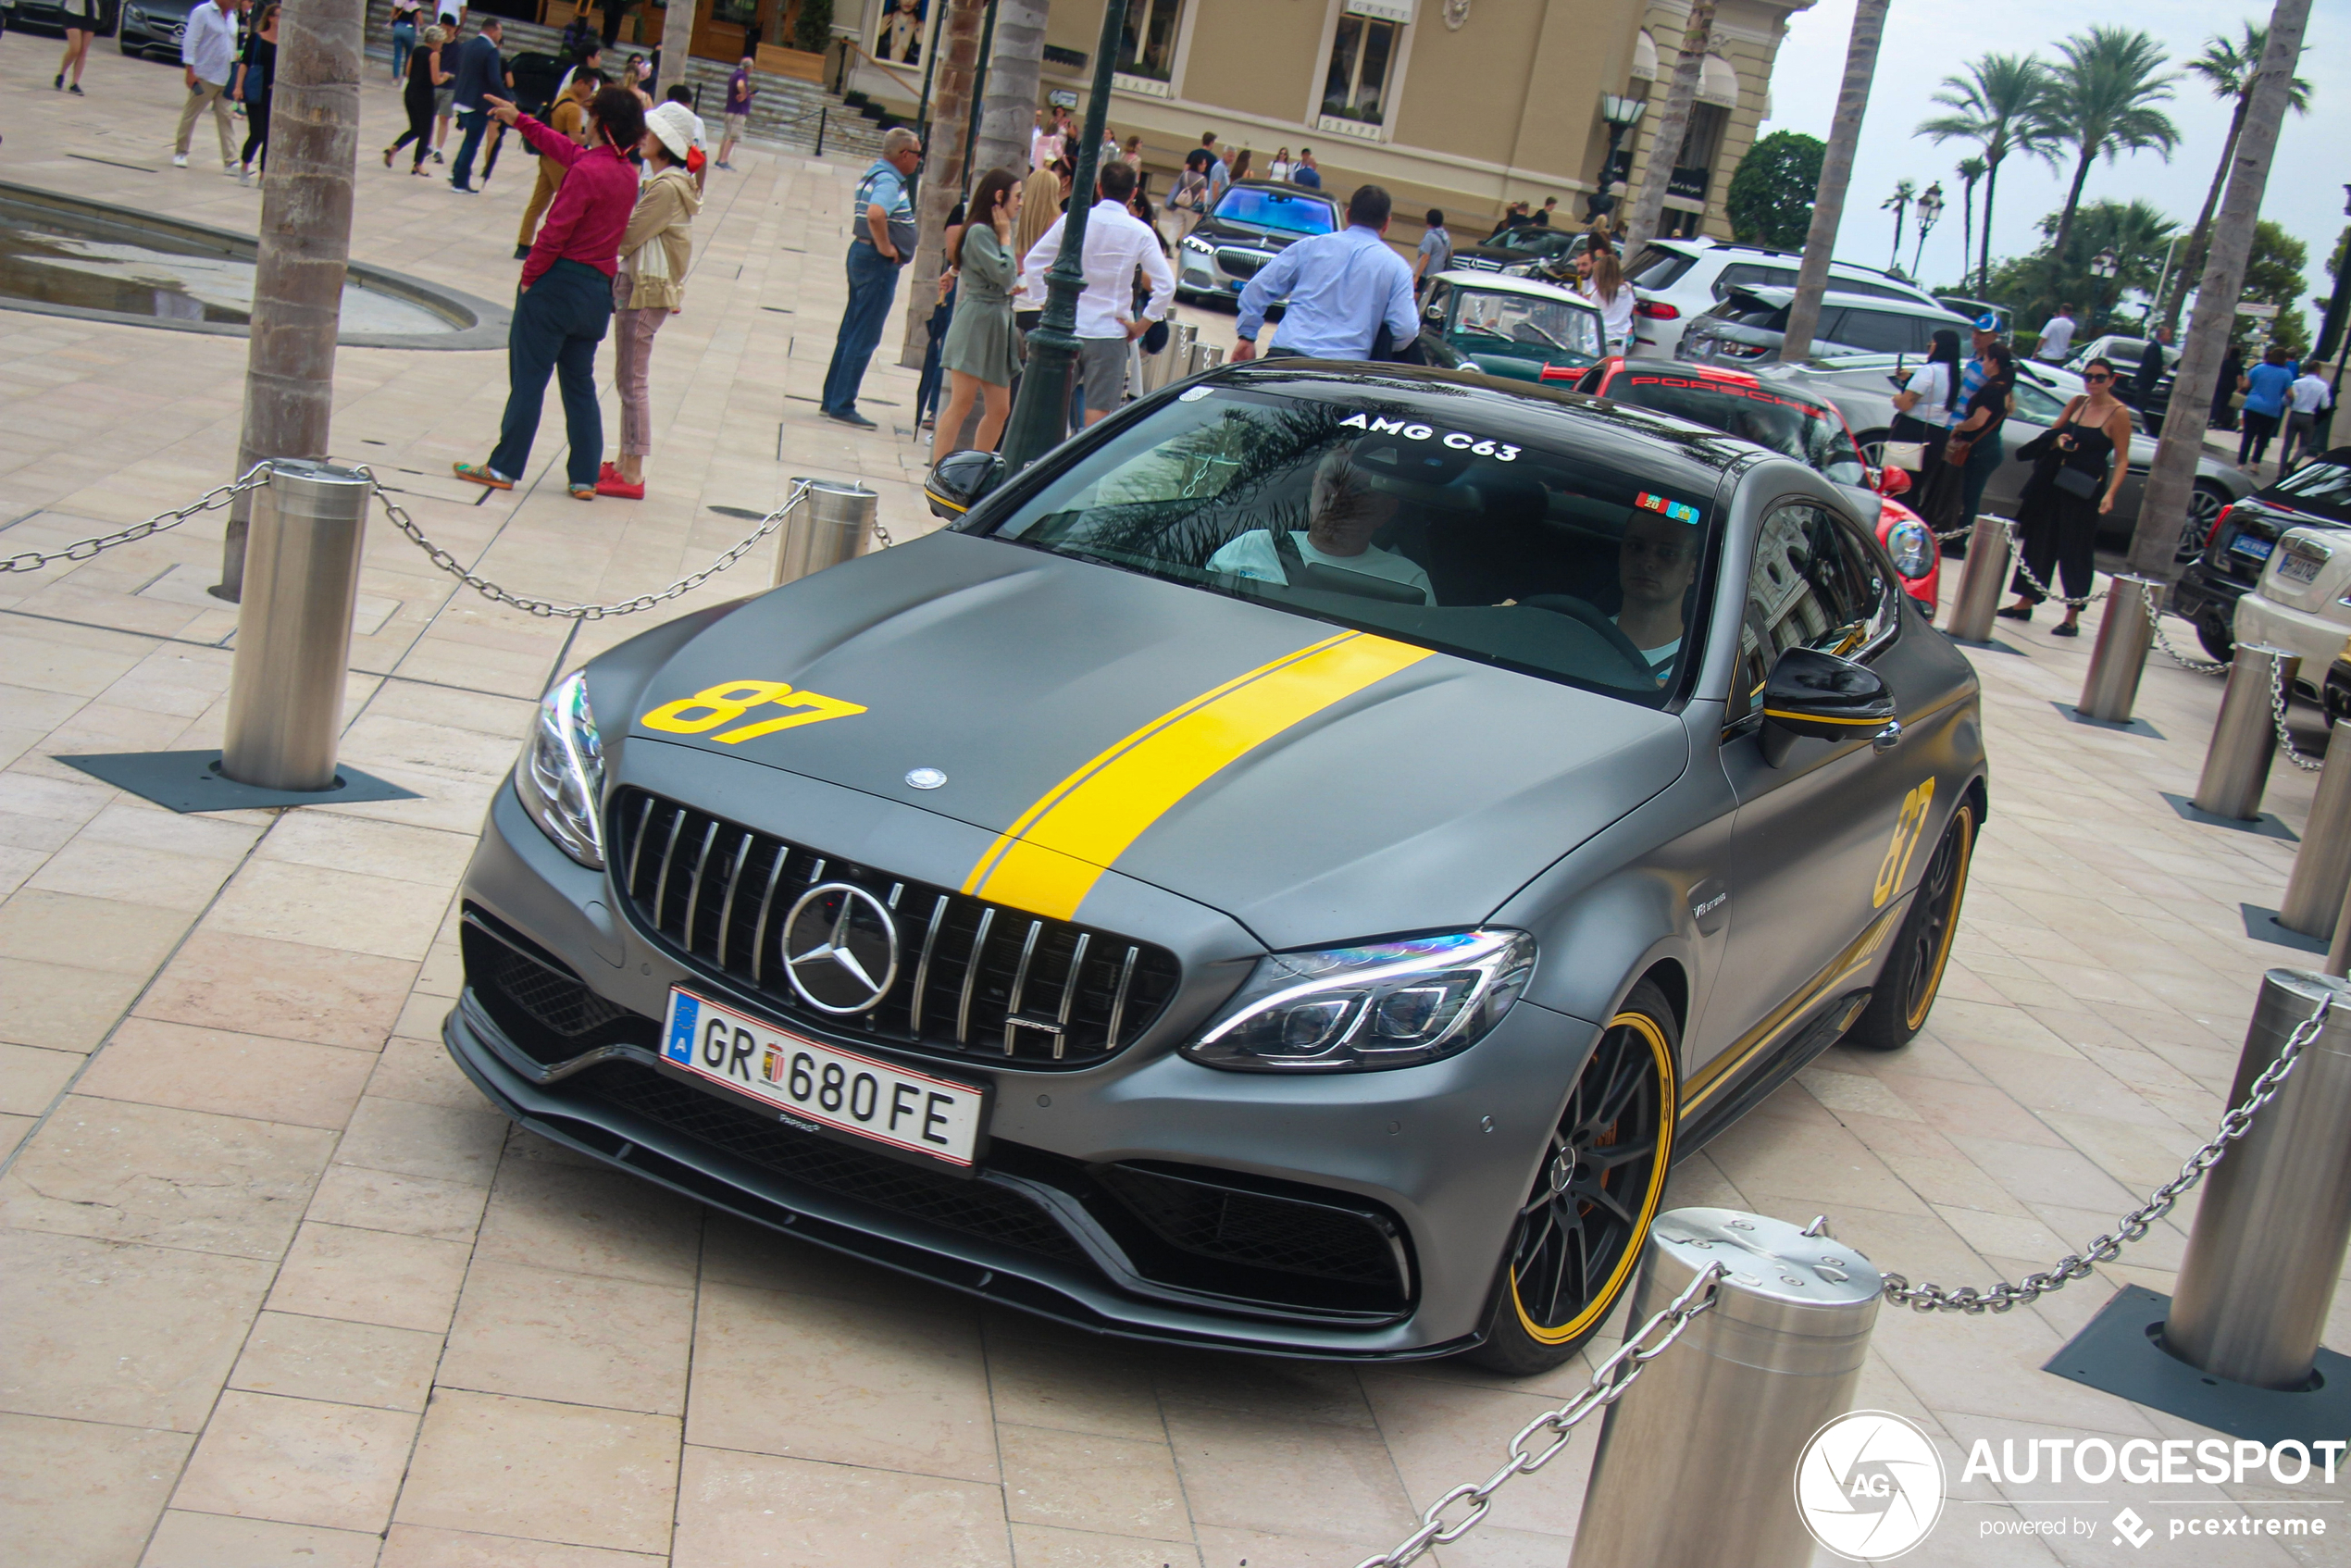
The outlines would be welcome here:
M 1046 790 L 997 835 L 964 891 L 1072 919 L 1100 875 L 1176 802 L 1244 752 L 1427 656 L 1340 632 L 1171 708 Z

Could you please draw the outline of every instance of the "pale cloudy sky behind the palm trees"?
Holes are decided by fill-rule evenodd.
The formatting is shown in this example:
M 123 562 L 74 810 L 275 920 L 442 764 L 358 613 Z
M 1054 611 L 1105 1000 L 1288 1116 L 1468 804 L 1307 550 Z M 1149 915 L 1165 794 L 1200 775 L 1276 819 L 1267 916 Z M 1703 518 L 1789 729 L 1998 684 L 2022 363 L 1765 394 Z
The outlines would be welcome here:
M 2114 21 L 2151 33 L 2175 59 L 2191 59 L 2215 33 L 2236 35 L 2241 19 L 2269 19 L 2266 5 L 2231 0 L 2135 0 L 2123 7 L 2064 7 L 2048 0 L 1895 0 L 1886 19 L 1886 45 L 1878 52 L 1878 75 L 1869 94 L 1869 118 L 1853 165 L 1853 188 L 1846 197 L 1846 223 L 1836 254 L 1869 266 L 1886 266 L 1893 244 L 1893 214 L 1878 202 L 1893 195 L 1895 181 L 1911 179 L 1923 190 L 1940 179 L 1949 207 L 1925 242 L 1921 273 L 1935 287 L 1951 282 L 1961 268 L 1961 181 L 1956 165 L 1975 148 L 1961 141 L 1933 143 L 1911 132 L 1921 120 L 1942 113 L 1930 103 L 1944 75 L 1963 61 L 2001 52 L 2038 52 L 2055 56 L 2055 40 L 2090 21 Z M 1846 42 L 1853 31 L 1853 0 L 1817 0 L 1813 9 L 1789 19 L 1787 42 L 1773 71 L 1775 115 L 1766 132 L 1794 129 L 1829 134 L 1836 113 L 1836 82 L 1846 71 Z M 2351 181 L 2351 5 L 2318 0 L 2304 38 L 2302 75 L 2311 82 L 2311 113 L 2285 120 L 2278 162 L 2269 172 L 2262 216 L 2283 223 L 2311 247 L 2311 294 L 2327 287 L 2325 254 L 2351 219 L 2344 216 L 2344 181 Z M 1817 89 L 1801 85 L 1817 82 Z M 2090 169 L 2083 200 L 2144 197 L 2168 212 L 2182 228 L 2196 221 L 2205 186 L 2229 134 L 2229 103 L 2215 99 L 2198 80 L 2182 80 L 2168 106 L 2179 127 L 2179 150 L 2165 165 L 2154 153 L 2099 162 Z M 2034 223 L 2064 205 L 2074 167 L 2062 169 L 2010 158 L 2001 165 L 1998 209 L 1994 212 L 1991 254 L 2020 254 L 2041 235 Z M 1982 200 L 1982 190 L 1977 190 Z M 1982 216 L 1982 214 L 1977 214 Z M 1909 266 L 1911 237 L 1902 242 Z M 2306 315 L 2316 329 L 2316 313 Z

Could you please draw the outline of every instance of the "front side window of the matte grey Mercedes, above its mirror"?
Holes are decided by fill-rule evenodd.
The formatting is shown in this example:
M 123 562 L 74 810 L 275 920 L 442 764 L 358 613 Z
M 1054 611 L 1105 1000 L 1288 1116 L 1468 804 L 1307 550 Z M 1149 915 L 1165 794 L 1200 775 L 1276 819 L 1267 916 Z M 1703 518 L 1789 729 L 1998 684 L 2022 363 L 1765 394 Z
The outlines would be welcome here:
M 1773 508 L 1756 529 L 1747 571 L 1728 717 L 1747 717 L 1780 654 L 1820 649 L 1850 658 L 1893 623 L 1895 609 L 1876 557 L 1827 508 L 1810 501 Z

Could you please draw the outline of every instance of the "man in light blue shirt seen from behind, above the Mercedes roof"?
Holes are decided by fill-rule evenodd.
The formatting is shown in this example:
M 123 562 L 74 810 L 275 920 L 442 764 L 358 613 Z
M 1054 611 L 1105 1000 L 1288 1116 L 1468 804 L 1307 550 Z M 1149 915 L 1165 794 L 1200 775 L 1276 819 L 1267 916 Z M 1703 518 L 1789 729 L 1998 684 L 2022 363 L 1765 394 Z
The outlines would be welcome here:
M 1413 268 L 1387 247 L 1387 190 L 1380 186 L 1357 186 L 1347 197 L 1347 228 L 1331 235 L 1298 240 L 1274 256 L 1241 289 L 1241 341 L 1232 348 L 1232 360 L 1258 355 L 1258 331 L 1265 327 L 1265 308 L 1291 301 L 1281 317 L 1281 353 L 1307 355 L 1310 360 L 1368 360 L 1371 346 L 1385 324 L 1394 348 L 1404 348 L 1420 334 L 1420 313 L 1413 310 Z

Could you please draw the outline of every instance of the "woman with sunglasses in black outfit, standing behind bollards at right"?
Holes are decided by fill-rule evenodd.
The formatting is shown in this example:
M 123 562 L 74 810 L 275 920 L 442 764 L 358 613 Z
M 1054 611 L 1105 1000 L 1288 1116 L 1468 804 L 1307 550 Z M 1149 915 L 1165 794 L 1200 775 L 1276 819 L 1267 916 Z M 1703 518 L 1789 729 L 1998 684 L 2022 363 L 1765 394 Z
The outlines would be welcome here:
M 2095 576 L 2097 520 L 2114 510 L 2114 494 L 2130 470 L 2130 409 L 2114 395 L 2114 364 L 2090 360 L 2081 383 L 2088 390 L 2064 407 L 2057 423 L 2017 449 L 2017 461 L 2031 463 L 2034 477 L 2024 482 L 2017 505 L 2024 562 L 2008 583 L 2017 602 L 2001 609 L 2001 616 L 2031 621 L 2034 604 L 2048 597 L 2034 588 L 2034 578 L 2045 585 L 2055 567 L 2064 576 L 2069 604 L 2064 623 L 2050 628 L 2052 637 L 2081 637 L 2081 599 L 2090 597 Z

